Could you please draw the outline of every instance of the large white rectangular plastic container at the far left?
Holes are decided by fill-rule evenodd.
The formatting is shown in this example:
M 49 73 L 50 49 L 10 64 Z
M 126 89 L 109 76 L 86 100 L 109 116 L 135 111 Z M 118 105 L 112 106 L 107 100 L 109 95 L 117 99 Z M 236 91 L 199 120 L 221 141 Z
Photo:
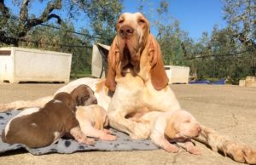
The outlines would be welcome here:
M 0 48 L 0 81 L 68 83 L 72 54 L 31 48 Z

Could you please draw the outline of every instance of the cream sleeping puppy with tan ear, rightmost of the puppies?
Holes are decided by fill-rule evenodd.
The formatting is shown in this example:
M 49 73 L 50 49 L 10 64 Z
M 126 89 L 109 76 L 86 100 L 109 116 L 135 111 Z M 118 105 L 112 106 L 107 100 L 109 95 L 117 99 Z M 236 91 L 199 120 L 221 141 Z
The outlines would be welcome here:
M 177 152 L 178 147 L 171 144 L 177 142 L 177 145 L 184 145 L 189 153 L 201 154 L 191 141 L 192 138 L 199 136 L 201 126 L 188 111 L 152 111 L 143 115 L 138 122 L 150 122 L 150 138 L 155 145 L 166 151 Z

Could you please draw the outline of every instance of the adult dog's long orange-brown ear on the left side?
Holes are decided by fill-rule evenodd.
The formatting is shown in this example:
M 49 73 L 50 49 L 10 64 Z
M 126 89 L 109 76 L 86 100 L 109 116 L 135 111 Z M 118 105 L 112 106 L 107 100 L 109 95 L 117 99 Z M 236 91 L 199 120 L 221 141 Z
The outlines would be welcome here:
M 107 79 L 105 82 L 105 85 L 109 88 L 109 90 L 113 91 L 115 90 L 116 82 L 115 82 L 115 76 L 116 76 L 116 65 L 117 65 L 117 54 L 118 54 L 118 48 L 117 48 L 117 38 L 115 37 L 113 39 L 113 43 L 109 49 L 108 52 L 108 73 L 107 73 Z

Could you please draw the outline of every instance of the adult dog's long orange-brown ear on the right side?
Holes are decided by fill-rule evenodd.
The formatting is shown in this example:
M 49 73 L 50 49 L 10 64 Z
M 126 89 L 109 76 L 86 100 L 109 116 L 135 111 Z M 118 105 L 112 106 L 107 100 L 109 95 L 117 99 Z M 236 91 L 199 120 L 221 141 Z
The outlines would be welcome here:
M 154 89 L 161 90 L 165 88 L 169 82 L 169 79 L 166 75 L 166 70 L 164 66 L 164 62 L 161 57 L 160 45 L 154 39 L 154 37 L 149 34 L 149 61 L 151 65 L 151 82 L 154 86 Z

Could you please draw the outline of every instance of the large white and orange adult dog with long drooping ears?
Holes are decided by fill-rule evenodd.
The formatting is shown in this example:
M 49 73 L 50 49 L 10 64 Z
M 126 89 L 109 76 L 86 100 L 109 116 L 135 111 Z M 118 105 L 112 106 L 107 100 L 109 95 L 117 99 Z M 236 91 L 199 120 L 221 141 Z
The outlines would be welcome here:
M 116 30 L 117 35 L 108 54 L 106 81 L 82 78 L 68 83 L 55 94 L 70 92 L 80 84 L 87 84 L 95 91 L 98 105 L 108 109 L 111 127 L 129 134 L 131 138 L 145 139 L 150 134 L 149 124 L 133 122 L 129 117 L 140 117 L 147 111 L 176 111 L 181 108 L 172 89 L 167 86 L 160 46 L 150 34 L 148 20 L 140 13 L 125 13 L 119 17 Z M 33 103 L 44 105 L 45 100 L 49 98 L 35 102 L 18 101 L 1 105 L 0 109 L 32 106 Z M 202 125 L 201 129 L 196 139 L 213 151 L 221 151 L 237 162 L 256 163 L 256 151 L 249 146 L 230 141 Z

